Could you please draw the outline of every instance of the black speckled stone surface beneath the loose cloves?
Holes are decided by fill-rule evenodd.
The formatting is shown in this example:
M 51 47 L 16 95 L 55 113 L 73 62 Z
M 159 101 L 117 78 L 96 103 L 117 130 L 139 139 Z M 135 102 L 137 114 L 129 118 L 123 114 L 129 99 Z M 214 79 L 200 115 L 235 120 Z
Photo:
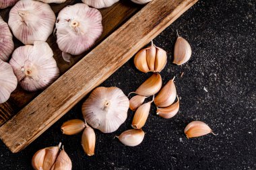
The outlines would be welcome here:
M 161 75 L 164 83 L 177 76 L 181 110 L 164 120 L 152 107 L 139 146 L 124 146 L 114 138 L 131 128 L 129 111 L 125 124 L 113 134 L 96 130 L 96 155 L 87 157 L 81 134 L 65 136 L 60 130 L 66 120 L 82 118 L 80 102 L 21 153 L 10 153 L 0 142 L 0 169 L 32 169 L 32 155 L 59 141 L 73 169 L 256 169 L 255 5 L 255 0 L 200 0 L 154 40 L 168 52 Z M 191 60 L 181 67 L 171 64 L 176 30 L 193 49 Z M 148 77 L 129 60 L 102 85 L 128 94 Z M 188 140 L 183 130 L 192 120 L 206 122 L 218 136 Z

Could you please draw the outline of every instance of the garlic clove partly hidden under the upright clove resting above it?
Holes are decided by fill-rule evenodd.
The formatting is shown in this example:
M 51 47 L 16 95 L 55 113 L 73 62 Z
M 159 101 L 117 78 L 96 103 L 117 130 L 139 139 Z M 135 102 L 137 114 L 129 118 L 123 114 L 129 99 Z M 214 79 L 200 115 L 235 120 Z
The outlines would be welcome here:
M 180 108 L 180 100 L 178 97 L 178 101 L 176 103 L 173 103 L 172 105 L 166 108 L 157 108 L 156 114 L 162 118 L 169 119 L 174 117 L 179 112 L 179 108 Z

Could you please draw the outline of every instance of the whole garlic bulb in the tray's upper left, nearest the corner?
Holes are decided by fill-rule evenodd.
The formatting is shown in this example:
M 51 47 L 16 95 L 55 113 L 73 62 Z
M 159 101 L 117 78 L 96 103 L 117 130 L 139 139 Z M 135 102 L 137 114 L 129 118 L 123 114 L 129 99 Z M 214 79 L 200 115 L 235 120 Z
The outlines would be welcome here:
M 55 25 L 55 13 L 49 4 L 20 0 L 9 13 L 8 24 L 13 35 L 23 44 L 46 41 Z

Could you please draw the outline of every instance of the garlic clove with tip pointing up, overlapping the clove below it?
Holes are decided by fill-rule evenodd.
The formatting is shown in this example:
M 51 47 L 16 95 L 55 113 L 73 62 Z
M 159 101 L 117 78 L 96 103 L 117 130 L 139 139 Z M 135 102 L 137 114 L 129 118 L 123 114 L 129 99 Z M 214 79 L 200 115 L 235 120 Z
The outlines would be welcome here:
M 162 89 L 159 91 L 158 95 L 156 95 L 156 98 L 154 99 L 154 103 L 156 104 L 157 107 L 167 107 L 171 105 L 177 95 L 176 87 L 174 85 L 174 79 L 171 79 L 162 87 Z

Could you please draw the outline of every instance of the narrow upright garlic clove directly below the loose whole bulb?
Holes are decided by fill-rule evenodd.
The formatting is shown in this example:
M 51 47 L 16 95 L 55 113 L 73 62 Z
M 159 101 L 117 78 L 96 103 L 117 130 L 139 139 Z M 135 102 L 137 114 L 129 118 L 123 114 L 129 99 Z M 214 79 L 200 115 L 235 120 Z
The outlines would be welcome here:
M 94 155 L 95 143 L 96 135 L 94 129 L 87 125 L 82 134 L 82 146 L 88 156 Z

